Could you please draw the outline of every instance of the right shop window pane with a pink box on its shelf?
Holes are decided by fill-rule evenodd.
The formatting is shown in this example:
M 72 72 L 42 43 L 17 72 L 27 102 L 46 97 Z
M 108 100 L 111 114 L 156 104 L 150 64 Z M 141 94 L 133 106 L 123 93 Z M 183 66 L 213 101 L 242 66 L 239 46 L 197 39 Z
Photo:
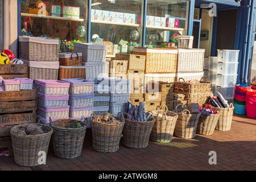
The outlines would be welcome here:
M 189 1 L 148 0 L 147 47 L 175 47 L 177 35 L 187 34 Z

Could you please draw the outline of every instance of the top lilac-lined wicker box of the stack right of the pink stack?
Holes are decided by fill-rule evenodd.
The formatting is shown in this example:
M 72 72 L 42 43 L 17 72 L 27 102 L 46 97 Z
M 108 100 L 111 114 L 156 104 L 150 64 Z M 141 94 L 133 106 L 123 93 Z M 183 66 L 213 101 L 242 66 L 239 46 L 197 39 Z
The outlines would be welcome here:
M 79 78 L 63 79 L 62 81 L 70 83 L 69 94 L 76 95 L 94 93 L 94 82 Z

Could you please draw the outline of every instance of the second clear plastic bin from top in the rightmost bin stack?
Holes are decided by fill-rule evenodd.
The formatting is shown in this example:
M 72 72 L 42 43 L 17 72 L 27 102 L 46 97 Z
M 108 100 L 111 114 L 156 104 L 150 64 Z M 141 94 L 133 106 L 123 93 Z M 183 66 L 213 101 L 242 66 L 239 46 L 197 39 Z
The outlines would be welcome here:
M 234 75 L 237 74 L 239 63 L 218 63 L 218 74 L 222 75 Z

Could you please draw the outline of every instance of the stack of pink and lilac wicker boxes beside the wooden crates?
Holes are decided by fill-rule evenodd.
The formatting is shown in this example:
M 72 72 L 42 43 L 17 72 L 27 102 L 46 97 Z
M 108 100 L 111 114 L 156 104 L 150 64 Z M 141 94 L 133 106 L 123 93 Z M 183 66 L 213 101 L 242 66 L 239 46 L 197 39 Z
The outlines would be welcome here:
M 60 80 L 35 80 L 38 88 L 38 120 L 49 124 L 56 119 L 69 118 L 69 82 Z

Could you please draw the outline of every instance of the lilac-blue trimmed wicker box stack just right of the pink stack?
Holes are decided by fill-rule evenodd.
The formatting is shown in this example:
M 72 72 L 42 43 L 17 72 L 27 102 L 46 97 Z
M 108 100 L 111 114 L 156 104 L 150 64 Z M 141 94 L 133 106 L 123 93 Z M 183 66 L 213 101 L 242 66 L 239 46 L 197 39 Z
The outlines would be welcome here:
M 69 118 L 89 118 L 93 113 L 94 82 L 80 78 L 63 79 L 70 84 Z

